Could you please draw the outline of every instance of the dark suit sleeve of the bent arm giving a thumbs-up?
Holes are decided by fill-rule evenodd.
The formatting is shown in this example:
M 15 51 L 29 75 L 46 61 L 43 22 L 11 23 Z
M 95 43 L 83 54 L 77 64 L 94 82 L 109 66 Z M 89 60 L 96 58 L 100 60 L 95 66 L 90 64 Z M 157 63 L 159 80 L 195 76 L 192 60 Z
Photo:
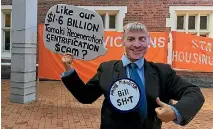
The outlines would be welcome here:
M 178 100 L 173 105 L 180 113 L 182 122 L 180 125 L 188 124 L 203 106 L 205 101 L 200 88 L 188 83 L 170 67 L 168 72 L 168 92 L 172 99 Z

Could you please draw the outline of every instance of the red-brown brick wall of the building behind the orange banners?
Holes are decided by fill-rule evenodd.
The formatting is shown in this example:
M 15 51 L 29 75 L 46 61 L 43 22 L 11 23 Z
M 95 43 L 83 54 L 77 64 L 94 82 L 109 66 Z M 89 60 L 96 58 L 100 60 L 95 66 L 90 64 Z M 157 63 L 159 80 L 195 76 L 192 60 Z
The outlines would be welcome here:
M 213 0 L 38 0 L 38 24 L 44 23 L 45 15 L 50 7 L 60 3 L 75 6 L 127 6 L 124 24 L 133 21 L 142 22 L 147 26 L 148 31 L 170 30 L 166 27 L 169 6 L 213 6 Z M 12 4 L 12 0 L 2 0 L 1 4 Z M 8 66 L 2 67 L 3 72 L 4 70 L 5 73 L 10 71 Z M 213 73 L 177 71 L 177 74 L 193 84 L 213 87 Z

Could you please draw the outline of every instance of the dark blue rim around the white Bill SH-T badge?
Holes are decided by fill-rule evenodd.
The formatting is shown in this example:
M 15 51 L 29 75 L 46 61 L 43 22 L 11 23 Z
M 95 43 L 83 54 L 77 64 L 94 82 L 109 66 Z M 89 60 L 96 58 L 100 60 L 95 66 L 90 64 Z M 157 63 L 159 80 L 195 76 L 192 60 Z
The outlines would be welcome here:
M 132 109 L 125 110 L 125 111 L 124 111 L 124 110 L 120 110 L 120 109 L 118 109 L 117 107 L 115 107 L 115 106 L 112 104 L 111 99 L 110 99 L 110 91 L 111 91 L 112 86 L 115 84 L 115 82 L 117 82 L 117 81 L 119 81 L 119 80 L 123 80 L 123 79 L 127 79 L 127 80 L 130 80 L 130 81 L 134 82 L 134 83 L 138 86 L 139 95 L 140 95 L 139 101 L 138 101 L 138 103 L 136 104 L 136 106 L 135 106 L 134 108 L 132 108 Z M 142 93 L 141 93 L 141 89 L 140 89 L 139 85 L 138 85 L 134 80 L 132 80 L 132 79 L 130 79 L 130 78 L 119 78 L 119 79 L 117 79 L 116 81 L 113 81 L 113 83 L 109 86 L 109 89 L 108 89 L 108 101 L 109 101 L 110 105 L 112 105 L 112 107 L 113 107 L 116 111 L 121 112 L 121 113 L 129 113 L 129 112 L 135 111 L 135 110 L 138 108 L 138 106 L 140 105 L 141 94 L 142 94 Z

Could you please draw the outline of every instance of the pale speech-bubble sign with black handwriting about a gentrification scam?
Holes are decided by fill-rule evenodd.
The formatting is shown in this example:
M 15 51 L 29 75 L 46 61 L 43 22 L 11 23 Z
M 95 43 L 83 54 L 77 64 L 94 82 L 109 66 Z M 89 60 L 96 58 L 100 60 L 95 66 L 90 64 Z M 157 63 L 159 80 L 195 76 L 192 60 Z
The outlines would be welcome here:
M 53 52 L 92 60 L 106 53 L 103 38 L 103 22 L 95 11 L 57 4 L 46 14 L 44 44 Z

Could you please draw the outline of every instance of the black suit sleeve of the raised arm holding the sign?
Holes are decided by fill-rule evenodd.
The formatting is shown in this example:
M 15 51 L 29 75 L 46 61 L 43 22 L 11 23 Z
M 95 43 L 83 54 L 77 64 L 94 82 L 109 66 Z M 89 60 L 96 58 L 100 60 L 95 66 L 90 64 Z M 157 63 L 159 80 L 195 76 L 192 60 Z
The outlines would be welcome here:
M 87 84 L 84 84 L 76 71 L 69 76 L 62 76 L 61 79 L 66 88 L 80 103 L 91 104 L 103 93 L 101 87 L 99 86 L 101 70 L 102 68 L 100 65 L 97 73 L 87 82 Z

